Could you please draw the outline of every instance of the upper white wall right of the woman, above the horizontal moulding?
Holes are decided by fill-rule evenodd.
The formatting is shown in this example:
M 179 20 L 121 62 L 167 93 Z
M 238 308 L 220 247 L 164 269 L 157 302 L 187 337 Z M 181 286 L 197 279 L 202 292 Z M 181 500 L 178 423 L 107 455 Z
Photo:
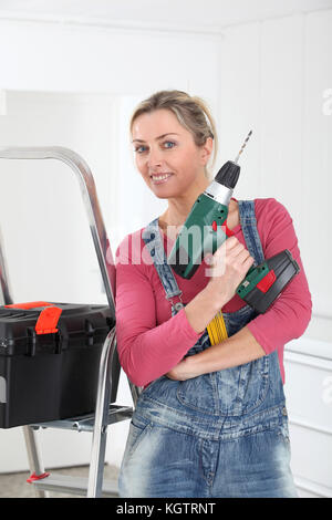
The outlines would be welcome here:
M 220 67 L 222 159 L 252 127 L 237 194 L 276 197 L 290 211 L 313 293 L 307 333 L 329 341 L 332 281 L 321 273 L 332 253 L 331 241 L 322 240 L 331 222 L 332 116 L 323 114 L 331 27 L 332 11 L 324 11 L 230 28 Z

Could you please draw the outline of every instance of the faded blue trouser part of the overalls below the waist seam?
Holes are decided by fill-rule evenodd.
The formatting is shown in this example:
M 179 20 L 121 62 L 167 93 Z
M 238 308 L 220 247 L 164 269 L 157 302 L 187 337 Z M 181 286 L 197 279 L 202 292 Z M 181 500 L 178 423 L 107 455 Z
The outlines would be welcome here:
M 269 410 L 263 422 L 261 416 L 251 418 L 241 430 L 224 434 L 212 424 L 209 429 L 208 422 L 199 423 L 197 415 L 204 435 L 174 429 L 167 412 L 163 420 L 158 416 L 153 422 L 151 415 L 153 408 L 148 416 L 133 417 L 121 497 L 297 497 L 287 417 L 280 408 Z

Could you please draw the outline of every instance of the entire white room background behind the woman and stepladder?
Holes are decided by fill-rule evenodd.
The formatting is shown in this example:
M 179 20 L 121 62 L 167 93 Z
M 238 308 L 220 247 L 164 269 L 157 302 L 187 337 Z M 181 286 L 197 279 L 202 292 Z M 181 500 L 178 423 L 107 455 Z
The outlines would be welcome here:
M 332 496 L 332 1 L 43 3 L 0 1 L 0 146 L 81 154 L 113 252 L 165 207 L 133 166 L 138 101 L 160 89 L 204 97 L 219 132 L 216 169 L 253 129 L 235 195 L 284 204 L 313 297 L 312 321 L 286 355 L 292 467 L 302 496 Z M 68 168 L 1 160 L 0 175 L 15 301 L 105 301 Z M 123 374 L 118 403 L 132 404 Z M 110 428 L 111 464 L 121 462 L 127 427 Z M 46 430 L 42 443 L 49 467 L 89 460 L 89 434 Z M 21 429 L 0 430 L 0 471 L 27 467 Z

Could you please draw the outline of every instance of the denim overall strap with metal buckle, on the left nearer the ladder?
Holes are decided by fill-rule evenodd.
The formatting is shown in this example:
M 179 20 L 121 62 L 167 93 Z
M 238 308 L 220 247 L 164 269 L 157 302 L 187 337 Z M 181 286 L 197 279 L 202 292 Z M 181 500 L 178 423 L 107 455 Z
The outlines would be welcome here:
M 167 257 L 159 232 L 158 220 L 159 219 L 157 217 L 146 226 L 146 228 L 143 230 L 142 238 L 154 261 L 154 266 L 166 293 L 166 299 L 170 300 L 172 314 L 175 314 L 184 306 L 181 302 L 183 291 L 179 290 L 173 271 L 167 263 Z M 175 297 L 179 297 L 180 301 L 174 304 L 172 299 Z

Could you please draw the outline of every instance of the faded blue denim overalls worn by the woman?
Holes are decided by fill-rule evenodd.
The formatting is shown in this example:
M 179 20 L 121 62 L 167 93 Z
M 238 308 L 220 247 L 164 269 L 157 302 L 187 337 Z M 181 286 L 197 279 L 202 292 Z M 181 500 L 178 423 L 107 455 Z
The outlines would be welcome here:
M 264 260 L 253 200 L 239 200 L 240 222 L 255 266 Z M 143 239 L 172 303 L 183 308 L 158 228 Z M 228 336 L 257 313 L 224 313 Z M 210 346 L 207 331 L 187 355 Z M 158 349 L 158 345 L 156 345 Z M 297 497 L 277 350 L 240 366 L 187 381 L 162 376 L 141 394 L 122 461 L 121 497 Z

